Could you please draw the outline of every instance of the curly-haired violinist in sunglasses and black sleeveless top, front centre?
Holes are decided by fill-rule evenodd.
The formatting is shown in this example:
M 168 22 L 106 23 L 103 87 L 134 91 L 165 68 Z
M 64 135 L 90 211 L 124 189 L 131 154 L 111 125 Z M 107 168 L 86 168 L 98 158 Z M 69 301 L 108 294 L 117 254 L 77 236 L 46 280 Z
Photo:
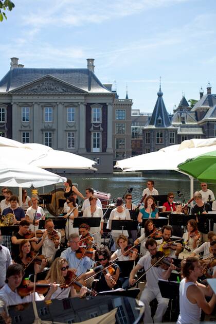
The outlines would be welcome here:
M 111 265 L 111 267 L 104 272 L 100 272 L 95 276 L 96 284 L 94 290 L 99 293 L 102 291 L 109 291 L 112 289 L 117 289 L 121 286 L 118 281 L 120 275 L 119 266 L 116 263 L 111 263 L 110 261 L 111 253 L 105 247 L 100 247 L 95 251 L 96 265 L 102 265 L 104 268 Z M 95 274 L 95 271 L 89 271 L 85 274 L 85 279 L 89 276 Z

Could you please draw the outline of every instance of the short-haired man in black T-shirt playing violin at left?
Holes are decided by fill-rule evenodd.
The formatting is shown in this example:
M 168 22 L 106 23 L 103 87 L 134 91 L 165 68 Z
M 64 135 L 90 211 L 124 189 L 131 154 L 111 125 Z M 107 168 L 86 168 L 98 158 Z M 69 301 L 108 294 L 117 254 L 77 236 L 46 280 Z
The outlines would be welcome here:
M 11 237 L 12 242 L 12 256 L 13 258 L 20 254 L 20 243 L 25 239 L 25 234 L 29 230 L 29 222 L 26 220 L 20 222 L 19 231 L 14 233 Z M 38 242 L 36 237 L 28 239 L 29 242 Z

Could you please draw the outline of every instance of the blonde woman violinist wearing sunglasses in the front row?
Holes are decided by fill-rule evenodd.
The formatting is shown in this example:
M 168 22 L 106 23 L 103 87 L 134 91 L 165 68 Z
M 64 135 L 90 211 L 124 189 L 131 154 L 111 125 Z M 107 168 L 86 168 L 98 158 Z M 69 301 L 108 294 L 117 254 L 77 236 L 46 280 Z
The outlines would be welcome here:
M 66 285 L 67 274 L 68 274 L 68 262 L 64 258 L 56 258 L 49 269 L 49 272 L 45 278 L 49 283 L 55 282 L 61 285 Z M 70 271 L 73 271 L 70 269 Z M 73 281 L 73 280 L 71 280 Z M 71 297 L 82 297 L 86 293 L 86 287 L 83 286 L 79 292 L 76 293 L 74 286 L 58 287 L 57 290 L 52 294 L 51 299 L 64 299 L 68 298 L 69 294 Z

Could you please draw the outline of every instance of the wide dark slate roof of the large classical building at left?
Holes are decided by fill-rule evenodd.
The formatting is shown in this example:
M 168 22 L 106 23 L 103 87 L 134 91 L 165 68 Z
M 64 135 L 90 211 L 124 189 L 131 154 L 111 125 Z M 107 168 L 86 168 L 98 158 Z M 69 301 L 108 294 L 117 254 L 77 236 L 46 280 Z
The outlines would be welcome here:
M 7 93 L 46 75 L 65 81 L 88 93 L 112 93 L 87 68 L 14 68 L 0 81 L 0 93 Z

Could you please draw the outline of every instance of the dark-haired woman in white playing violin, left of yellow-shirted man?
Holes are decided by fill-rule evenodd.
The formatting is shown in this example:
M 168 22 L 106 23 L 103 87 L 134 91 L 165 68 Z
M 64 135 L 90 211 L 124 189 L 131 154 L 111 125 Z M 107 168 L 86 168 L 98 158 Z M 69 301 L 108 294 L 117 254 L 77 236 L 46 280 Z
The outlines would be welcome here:
M 144 232 L 143 234 L 134 241 L 134 244 L 135 245 L 138 245 L 140 242 L 141 243 L 141 247 L 140 247 L 140 253 L 142 255 L 145 255 L 147 253 L 147 249 L 146 249 L 146 242 L 143 241 L 145 238 L 147 237 L 151 237 L 155 240 L 158 240 L 158 239 L 161 239 L 161 231 L 156 231 L 157 228 L 156 226 L 154 225 L 153 221 L 151 219 L 147 220 L 145 225 L 144 225 Z

